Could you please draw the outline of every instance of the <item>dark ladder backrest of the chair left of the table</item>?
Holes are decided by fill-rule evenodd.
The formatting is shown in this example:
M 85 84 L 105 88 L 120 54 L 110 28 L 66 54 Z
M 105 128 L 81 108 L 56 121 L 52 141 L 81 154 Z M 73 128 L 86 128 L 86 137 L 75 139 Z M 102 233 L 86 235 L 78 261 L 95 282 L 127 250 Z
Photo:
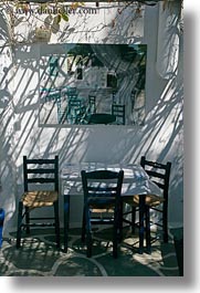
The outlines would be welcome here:
M 35 189 L 35 185 L 53 185 L 59 192 L 59 156 L 53 159 L 28 159 L 23 156 L 24 191 Z

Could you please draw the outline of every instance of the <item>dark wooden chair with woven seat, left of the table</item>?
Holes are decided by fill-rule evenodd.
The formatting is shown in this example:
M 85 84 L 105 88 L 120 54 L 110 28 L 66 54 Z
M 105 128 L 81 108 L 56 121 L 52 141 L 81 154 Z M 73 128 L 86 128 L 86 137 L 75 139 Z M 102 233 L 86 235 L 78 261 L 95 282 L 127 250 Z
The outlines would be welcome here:
M 53 159 L 28 159 L 23 156 L 24 193 L 19 201 L 17 248 L 21 245 L 24 229 L 31 227 L 55 227 L 56 245 L 60 247 L 59 220 L 59 156 Z M 31 217 L 39 208 L 54 208 L 53 217 Z M 42 211 L 40 211 L 42 214 Z

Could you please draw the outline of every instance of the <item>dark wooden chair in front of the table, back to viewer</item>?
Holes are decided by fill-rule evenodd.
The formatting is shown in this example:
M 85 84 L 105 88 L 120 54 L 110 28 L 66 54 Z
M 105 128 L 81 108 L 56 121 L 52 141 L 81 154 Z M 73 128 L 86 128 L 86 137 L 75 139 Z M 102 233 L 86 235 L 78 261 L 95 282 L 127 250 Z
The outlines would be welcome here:
M 119 233 L 120 192 L 124 171 L 82 170 L 84 191 L 84 211 L 82 241 L 85 241 L 87 257 L 92 257 L 92 227 L 93 224 L 113 226 L 113 257 L 117 258 Z

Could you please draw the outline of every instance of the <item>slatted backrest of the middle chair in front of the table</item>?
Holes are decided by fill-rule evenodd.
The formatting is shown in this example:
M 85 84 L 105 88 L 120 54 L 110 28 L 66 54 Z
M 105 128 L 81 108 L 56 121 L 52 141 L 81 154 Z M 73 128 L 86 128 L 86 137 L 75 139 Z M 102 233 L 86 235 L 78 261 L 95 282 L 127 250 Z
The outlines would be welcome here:
M 115 202 L 119 205 L 124 171 L 119 170 L 82 170 L 84 202 L 101 205 Z

